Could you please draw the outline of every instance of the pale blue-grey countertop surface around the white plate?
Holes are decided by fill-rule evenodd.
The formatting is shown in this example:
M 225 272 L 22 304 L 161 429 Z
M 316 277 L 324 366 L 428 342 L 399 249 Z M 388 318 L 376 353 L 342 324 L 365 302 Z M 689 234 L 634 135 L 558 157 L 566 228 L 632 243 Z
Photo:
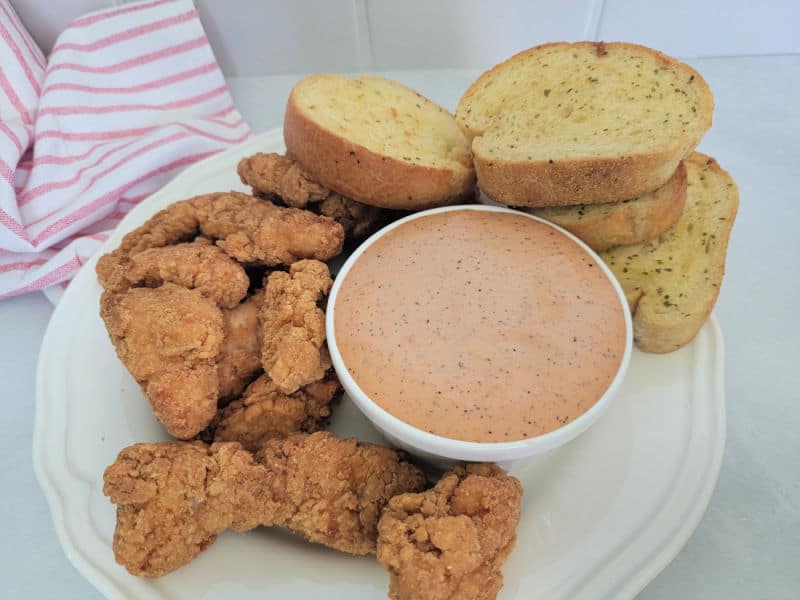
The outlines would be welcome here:
M 794 600 L 800 597 L 800 55 L 689 62 L 716 98 L 714 126 L 700 150 L 733 175 L 741 195 L 716 308 L 725 334 L 728 438 L 700 527 L 639 598 Z M 452 109 L 477 72 L 387 75 Z M 299 78 L 229 84 L 258 132 L 280 126 Z M 41 294 L 0 302 L 0 597 L 99 598 L 64 556 L 31 463 L 36 357 L 51 312 Z

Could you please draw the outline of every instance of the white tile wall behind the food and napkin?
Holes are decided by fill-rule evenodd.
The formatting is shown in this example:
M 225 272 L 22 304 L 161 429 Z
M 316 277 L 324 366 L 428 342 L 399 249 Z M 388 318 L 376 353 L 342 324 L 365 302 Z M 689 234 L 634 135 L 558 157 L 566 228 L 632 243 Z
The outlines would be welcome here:
M 0 0 L 5 1 L 5 0 Z M 11 0 L 45 50 L 126 0 Z M 553 40 L 680 57 L 800 53 L 800 0 L 195 0 L 228 75 L 484 67 Z

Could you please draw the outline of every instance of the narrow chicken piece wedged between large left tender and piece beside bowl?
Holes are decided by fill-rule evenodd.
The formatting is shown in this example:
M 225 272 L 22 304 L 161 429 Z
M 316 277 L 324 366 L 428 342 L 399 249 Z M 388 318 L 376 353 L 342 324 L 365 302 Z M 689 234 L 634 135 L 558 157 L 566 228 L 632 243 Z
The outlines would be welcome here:
M 223 342 L 217 360 L 219 398 L 239 396 L 261 372 L 260 289 L 236 308 L 222 311 Z

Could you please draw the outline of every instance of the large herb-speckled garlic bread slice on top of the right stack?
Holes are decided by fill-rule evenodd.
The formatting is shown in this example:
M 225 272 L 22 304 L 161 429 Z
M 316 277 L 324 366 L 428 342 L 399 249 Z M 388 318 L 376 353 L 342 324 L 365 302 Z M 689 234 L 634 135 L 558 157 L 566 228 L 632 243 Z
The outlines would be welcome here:
M 478 182 L 511 206 L 636 198 L 664 185 L 711 126 L 691 67 L 627 43 L 558 42 L 481 75 L 456 119 Z

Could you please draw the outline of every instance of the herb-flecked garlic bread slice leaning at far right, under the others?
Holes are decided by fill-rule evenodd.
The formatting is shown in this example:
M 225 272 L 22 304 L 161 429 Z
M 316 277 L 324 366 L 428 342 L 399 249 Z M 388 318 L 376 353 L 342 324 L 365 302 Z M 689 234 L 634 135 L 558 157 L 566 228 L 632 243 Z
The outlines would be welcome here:
M 656 241 L 600 253 L 625 290 L 634 340 L 647 352 L 677 350 L 706 322 L 739 206 L 736 184 L 713 158 L 695 152 L 684 163 L 688 193 L 678 222 Z

